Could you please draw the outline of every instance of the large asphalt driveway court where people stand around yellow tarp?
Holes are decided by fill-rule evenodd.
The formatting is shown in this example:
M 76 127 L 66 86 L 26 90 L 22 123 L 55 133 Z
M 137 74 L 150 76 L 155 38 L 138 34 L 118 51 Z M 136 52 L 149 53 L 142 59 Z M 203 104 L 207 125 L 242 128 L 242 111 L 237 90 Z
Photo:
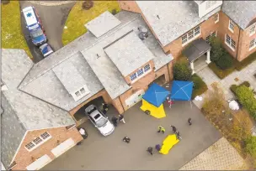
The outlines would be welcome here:
M 90 122 L 84 123 L 82 127 L 87 129 L 88 139 L 43 169 L 177 170 L 221 138 L 221 134 L 194 104 L 190 108 L 189 102 L 177 101 L 172 109 L 165 106 L 167 117 L 163 119 L 147 116 L 139 109 L 140 106 L 141 103 L 125 111 L 126 124 L 120 123 L 109 137 L 101 136 Z M 108 115 L 110 113 L 116 111 L 112 108 Z M 189 117 L 192 118 L 192 126 L 187 123 Z M 147 147 L 162 144 L 171 133 L 170 124 L 178 128 L 183 139 L 168 155 L 154 151 L 151 156 L 146 151 Z M 166 128 L 165 134 L 157 133 L 159 125 Z M 130 144 L 122 142 L 125 136 L 131 137 Z

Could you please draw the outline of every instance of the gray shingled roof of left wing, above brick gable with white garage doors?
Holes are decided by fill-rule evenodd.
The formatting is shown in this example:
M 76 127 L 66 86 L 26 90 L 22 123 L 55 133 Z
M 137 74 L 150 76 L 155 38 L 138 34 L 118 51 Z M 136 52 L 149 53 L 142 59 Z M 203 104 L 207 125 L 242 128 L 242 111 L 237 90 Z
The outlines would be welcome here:
M 67 111 L 19 91 L 17 87 L 33 66 L 24 50 L 2 49 L 2 159 L 8 166 L 25 130 L 65 127 L 75 124 Z M 42 89 L 43 90 L 43 89 Z M 17 137 L 17 138 L 16 138 Z M 4 151 L 3 151 L 4 150 Z

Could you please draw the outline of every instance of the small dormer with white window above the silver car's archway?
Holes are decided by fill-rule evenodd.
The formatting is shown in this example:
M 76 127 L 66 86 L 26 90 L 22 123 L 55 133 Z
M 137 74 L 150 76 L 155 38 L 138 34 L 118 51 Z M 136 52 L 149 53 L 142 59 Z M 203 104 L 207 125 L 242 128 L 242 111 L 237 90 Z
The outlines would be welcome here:
M 90 93 L 83 76 L 71 62 L 63 62 L 52 70 L 74 101 L 78 101 Z

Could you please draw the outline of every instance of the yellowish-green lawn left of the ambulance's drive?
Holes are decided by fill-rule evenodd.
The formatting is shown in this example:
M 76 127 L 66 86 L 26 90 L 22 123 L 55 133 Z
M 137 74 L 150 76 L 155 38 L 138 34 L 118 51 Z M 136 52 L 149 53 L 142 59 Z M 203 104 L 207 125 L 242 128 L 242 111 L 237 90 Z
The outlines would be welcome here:
M 32 58 L 20 24 L 19 1 L 1 4 L 1 40 L 3 49 L 24 49 Z

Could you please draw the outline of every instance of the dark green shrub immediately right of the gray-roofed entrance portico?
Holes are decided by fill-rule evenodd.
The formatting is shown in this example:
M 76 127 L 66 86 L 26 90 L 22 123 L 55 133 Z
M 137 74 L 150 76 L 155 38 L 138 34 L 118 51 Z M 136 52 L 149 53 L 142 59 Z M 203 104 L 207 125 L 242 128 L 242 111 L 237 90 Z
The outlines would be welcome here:
M 221 40 L 217 38 L 210 39 L 211 44 L 211 61 L 216 62 L 225 54 L 225 49 L 222 47 Z

